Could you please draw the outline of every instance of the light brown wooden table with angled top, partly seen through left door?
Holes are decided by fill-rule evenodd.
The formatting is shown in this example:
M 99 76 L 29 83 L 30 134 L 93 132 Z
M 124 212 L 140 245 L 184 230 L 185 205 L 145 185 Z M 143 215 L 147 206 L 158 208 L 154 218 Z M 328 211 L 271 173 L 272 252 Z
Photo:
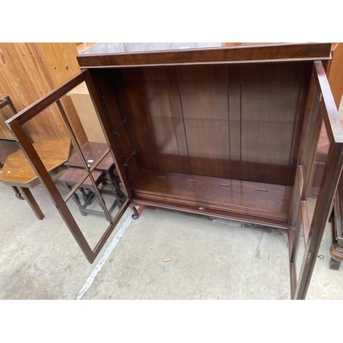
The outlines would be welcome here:
M 71 154 L 71 139 L 42 139 L 33 145 L 50 176 L 65 169 L 63 163 Z M 0 181 L 5 185 L 18 187 L 38 219 L 43 220 L 43 212 L 29 190 L 39 185 L 40 180 L 21 150 L 8 156 L 0 171 Z

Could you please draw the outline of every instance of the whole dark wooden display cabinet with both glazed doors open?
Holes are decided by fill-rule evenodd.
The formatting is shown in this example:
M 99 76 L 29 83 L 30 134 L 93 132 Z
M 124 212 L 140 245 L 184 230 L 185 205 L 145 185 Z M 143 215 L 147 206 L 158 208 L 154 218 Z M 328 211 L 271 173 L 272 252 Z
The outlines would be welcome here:
M 132 202 L 232 218 L 288 234 L 291 296 L 303 299 L 343 165 L 343 129 L 326 75 L 330 50 L 330 43 L 101 43 L 78 56 L 75 78 L 7 123 L 88 261 Z M 89 177 L 96 186 L 91 172 L 104 154 L 87 165 L 59 100 L 84 81 L 127 197 L 93 250 L 65 204 L 72 192 L 60 196 L 22 127 L 56 102 L 86 170 L 78 184 Z M 330 145 L 310 218 L 322 125 Z

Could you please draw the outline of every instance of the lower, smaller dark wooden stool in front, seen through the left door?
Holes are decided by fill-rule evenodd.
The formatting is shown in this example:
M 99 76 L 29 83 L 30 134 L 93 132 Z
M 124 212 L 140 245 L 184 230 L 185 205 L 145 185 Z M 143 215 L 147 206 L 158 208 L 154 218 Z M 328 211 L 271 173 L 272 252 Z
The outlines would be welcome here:
M 80 181 L 82 176 L 84 176 L 84 173 L 85 173 L 84 169 L 69 167 L 67 171 L 65 171 L 65 173 L 59 178 L 59 180 L 63 183 L 63 185 L 65 185 L 69 190 L 71 190 Z M 106 185 L 106 175 L 104 171 L 94 170 L 92 171 L 92 176 L 94 178 L 95 185 L 99 186 L 100 183 L 102 183 L 102 185 Z M 86 178 L 86 180 L 82 182 L 82 185 L 80 185 L 79 189 L 82 193 L 84 204 L 83 205 L 81 204 L 80 198 L 76 192 L 73 193 L 72 198 L 74 202 L 78 204 L 80 213 L 82 215 L 87 215 L 87 213 L 97 213 L 97 214 L 105 215 L 104 212 L 86 209 L 86 207 L 89 206 L 92 203 L 93 199 L 96 197 L 95 189 L 91 182 L 91 178 L 89 177 Z M 88 191 L 86 191 L 87 189 Z M 104 192 L 102 191 L 102 189 L 99 189 L 99 191 L 100 193 Z M 99 206 L 102 207 L 102 203 L 100 202 L 99 198 L 97 198 L 97 202 Z M 113 202 L 110 209 L 108 210 L 108 212 L 112 213 L 113 210 L 115 209 L 115 206 L 117 206 L 117 204 L 118 203 L 116 199 L 115 202 Z

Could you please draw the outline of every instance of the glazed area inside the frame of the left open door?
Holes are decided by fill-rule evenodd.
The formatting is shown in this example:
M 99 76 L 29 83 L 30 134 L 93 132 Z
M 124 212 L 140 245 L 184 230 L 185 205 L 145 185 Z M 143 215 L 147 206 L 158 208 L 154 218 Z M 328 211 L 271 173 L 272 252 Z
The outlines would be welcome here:
M 61 97 L 23 129 L 94 249 L 126 196 L 86 84 Z M 36 187 L 39 180 L 31 171 Z

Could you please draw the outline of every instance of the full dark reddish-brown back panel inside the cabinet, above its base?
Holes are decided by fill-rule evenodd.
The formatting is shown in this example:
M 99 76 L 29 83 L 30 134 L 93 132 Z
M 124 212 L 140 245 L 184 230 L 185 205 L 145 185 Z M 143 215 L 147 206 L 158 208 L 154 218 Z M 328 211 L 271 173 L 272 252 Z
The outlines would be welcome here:
M 311 62 L 106 69 L 139 169 L 293 185 Z

